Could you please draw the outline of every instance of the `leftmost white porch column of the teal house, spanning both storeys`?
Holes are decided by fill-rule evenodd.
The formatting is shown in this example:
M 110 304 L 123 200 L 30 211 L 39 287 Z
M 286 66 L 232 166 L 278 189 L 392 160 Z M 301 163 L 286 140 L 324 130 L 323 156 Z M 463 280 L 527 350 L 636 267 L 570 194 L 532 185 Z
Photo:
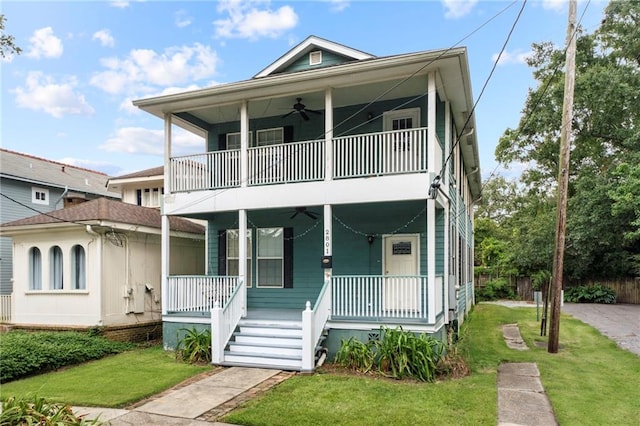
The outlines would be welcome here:
M 165 195 L 171 194 L 171 114 L 164 115 L 164 187 Z M 167 303 L 169 294 L 169 285 L 167 283 L 171 264 L 169 256 L 171 256 L 171 228 L 169 227 L 169 216 L 164 214 L 164 200 L 162 202 L 162 222 L 161 222 L 161 241 L 160 241 L 160 285 L 162 286 L 162 315 L 167 314 Z

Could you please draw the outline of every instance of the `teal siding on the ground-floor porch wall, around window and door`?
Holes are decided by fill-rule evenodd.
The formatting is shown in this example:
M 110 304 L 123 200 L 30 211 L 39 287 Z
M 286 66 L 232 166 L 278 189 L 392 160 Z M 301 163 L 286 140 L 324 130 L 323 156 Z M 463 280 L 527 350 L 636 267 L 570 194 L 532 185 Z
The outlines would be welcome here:
M 334 206 L 333 273 L 336 275 L 382 274 L 382 235 L 420 234 L 420 273 L 426 274 L 426 203 L 424 201 Z M 324 284 L 320 266 L 323 255 L 323 209 L 309 206 L 319 214 L 317 220 L 293 209 L 248 212 L 248 226 L 253 229 L 252 286 L 247 299 L 250 308 L 304 309 L 315 302 Z M 375 212 L 375 215 L 371 213 Z M 237 228 L 237 213 L 216 214 L 209 218 L 209 273 L 218 274 L 218 230 Z M 293 288 L 256 287 L 256 228 L 293 228 Z M 375 235 L 369 244 L 367 235 Z M 441 248 L 442 250 L 442 248 Z

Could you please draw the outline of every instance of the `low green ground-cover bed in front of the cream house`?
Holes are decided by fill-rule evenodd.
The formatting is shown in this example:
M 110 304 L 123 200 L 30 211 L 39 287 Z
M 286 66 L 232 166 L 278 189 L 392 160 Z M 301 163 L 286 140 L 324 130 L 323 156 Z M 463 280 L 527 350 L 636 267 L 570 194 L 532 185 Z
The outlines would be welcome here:
M 116 354 L 133 347 L 77 331 L 10 331 L 0 339 L 0 383 Z

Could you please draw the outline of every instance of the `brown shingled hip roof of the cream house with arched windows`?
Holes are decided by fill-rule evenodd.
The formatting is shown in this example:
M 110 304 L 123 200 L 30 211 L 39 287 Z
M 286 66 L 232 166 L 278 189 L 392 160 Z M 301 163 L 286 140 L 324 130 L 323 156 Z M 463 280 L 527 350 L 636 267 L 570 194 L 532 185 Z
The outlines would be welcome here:
M 0 229 L 6 232 L 17 227 L 76 222 L 88 222 L 82 223 L 83 225 L 94 225 L 95 222 L 115 222 L 160 229 L 162 215 L 155 208 L 140 207 L 108 198 L 97 198 L 65 209 L 8 222 L 0 225 Z M 204 234 L 203 226 L 179 217 L 170 216 L 169 227 L 172 231 Z

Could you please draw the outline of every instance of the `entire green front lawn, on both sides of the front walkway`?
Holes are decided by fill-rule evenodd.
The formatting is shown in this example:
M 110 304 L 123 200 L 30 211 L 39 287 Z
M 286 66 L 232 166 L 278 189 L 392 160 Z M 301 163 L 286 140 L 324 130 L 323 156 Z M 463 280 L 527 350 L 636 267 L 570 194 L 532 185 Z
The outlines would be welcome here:
M 513 323 L 519 325 L 529 351 L 507 348 L 501 326 Z M 549 354 L 539 327 L 535 309 L 480 304 L 461 333 L 460 350 L 472 371 L 468 377 L 416 383 L 322 371 L 296 375 L 223 421 L 296 426 L 495 425 L 497 367 L 504 361 L 523 361 L 538 364 L 560 424 L 638 424 L 640 357 L 565 315 L 560 351 Z M 136 349 L 3 384 L 0 397 L 38 395 L 72 405 L 122 407 L 211 368 L 179 363 L 161 347 Z

